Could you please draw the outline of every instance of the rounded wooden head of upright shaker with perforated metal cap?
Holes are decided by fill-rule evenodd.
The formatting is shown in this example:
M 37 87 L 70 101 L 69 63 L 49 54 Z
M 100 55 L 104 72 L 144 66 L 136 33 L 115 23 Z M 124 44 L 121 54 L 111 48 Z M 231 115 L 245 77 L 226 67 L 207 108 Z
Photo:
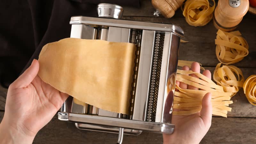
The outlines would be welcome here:
M 223 16 L 240 19 L 249 9 L 249 0 L 219 0 L 218 5 Z

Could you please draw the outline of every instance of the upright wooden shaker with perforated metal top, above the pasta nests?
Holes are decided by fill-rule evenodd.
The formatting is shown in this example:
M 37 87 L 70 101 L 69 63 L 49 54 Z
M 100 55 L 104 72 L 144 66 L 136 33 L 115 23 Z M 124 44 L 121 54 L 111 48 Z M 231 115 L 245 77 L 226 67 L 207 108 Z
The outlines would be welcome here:
M 233 31 L 249 9 L 249 0 L 219 0 L 213 24 L 223 31 Z

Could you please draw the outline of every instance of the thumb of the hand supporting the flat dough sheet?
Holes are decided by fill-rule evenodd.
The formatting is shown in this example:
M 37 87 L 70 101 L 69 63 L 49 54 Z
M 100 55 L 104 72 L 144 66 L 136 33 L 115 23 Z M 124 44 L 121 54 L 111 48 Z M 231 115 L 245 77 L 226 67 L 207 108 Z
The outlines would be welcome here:
M 38 70 L 39 62 L 34 59 L 28 69 L 26 69 L 10 86 L 12 86 L 12 88 L 27 87 L 36 77 Z

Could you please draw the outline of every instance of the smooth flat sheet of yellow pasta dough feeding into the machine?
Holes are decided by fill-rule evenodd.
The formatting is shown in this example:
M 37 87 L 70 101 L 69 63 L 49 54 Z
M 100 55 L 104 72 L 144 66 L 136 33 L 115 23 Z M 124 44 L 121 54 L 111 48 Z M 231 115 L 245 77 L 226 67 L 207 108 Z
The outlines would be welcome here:
M 131 43 L 65 38 L 44 45 L 38 76 L 77 100 L 128 114 L 135 51 Z

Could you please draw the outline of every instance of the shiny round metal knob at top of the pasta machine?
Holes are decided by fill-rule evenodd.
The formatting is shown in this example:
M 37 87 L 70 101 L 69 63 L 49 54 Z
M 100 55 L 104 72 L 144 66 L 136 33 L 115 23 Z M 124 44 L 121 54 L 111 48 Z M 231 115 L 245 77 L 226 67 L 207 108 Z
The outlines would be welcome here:
M 119 19 L 123 14 L 123 7 L 116 4 L 101 3 L 98 4 L 97 10 L 99 17 Z

